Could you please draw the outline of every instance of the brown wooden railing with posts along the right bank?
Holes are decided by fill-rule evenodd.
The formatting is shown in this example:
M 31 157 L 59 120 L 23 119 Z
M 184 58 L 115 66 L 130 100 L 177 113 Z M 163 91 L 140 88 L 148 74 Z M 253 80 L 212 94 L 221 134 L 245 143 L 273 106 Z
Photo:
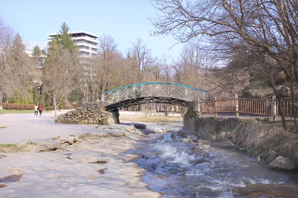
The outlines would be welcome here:
M 298 103 L 298 98 L 295 98 L 295 103 Z M 217 113 L 220 112 L 234 112 L 236 117 L 239 113 L 249 113 L 256 115 L 268 115 L 273 116 L 275 120 L 277 115 L 280 115 L 278 109 L 278 101 L 276 96 L 271 99 L 238 99 L 235 95 L 234 99 L 217 99 L 212 101 L 199 101 L 198 111 L 202 113 Z M 292 116 L 294 114 L 294 108 L 298 112 L 298 106 L 293 108 L 291 98 L 284 98 L 281 100 L 282 112 L 285 116 Z

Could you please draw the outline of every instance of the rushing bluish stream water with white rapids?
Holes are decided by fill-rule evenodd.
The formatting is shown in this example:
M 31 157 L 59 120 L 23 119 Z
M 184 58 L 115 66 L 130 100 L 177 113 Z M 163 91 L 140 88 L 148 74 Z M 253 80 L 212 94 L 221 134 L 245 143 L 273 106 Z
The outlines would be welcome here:
M 246 153 L 206 148 L 191 154 L 194 144 L 162 134 L 157 141 L 138 143 L 135 160 L 144 168 L 144 182 L 162 198 L 298 198 L 298 177 L 288 171 L 267 168 Z M 209 149 L 210 151 L 208 151 Z M 195 159 L 201 159 L 195 164 Z

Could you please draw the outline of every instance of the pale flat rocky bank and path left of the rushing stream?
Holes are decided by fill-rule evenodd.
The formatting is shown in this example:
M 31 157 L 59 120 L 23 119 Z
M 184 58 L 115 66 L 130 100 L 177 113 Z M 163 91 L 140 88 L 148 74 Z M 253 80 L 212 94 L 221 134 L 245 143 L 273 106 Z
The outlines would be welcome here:
M 2 197 L 160 197 L 142 181 L 143 169 L 129 162 L 139 156 L 123 154 L 145 136 L 133 124 L 54 119 L 50 113 L 0 115 L 0 144 L 23 147 L 22 152 L 0 153 Z

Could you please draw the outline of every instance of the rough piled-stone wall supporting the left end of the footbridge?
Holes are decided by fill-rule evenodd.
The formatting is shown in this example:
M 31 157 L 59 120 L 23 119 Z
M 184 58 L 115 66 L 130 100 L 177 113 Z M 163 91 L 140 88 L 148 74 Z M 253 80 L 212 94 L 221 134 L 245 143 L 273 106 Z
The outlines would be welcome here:
M 55 122 L 87 122 L 101 124 L 119 124 L 119 112 L 107 112 L 98 102 L 86 103 L 75 110 L 58 115 Z

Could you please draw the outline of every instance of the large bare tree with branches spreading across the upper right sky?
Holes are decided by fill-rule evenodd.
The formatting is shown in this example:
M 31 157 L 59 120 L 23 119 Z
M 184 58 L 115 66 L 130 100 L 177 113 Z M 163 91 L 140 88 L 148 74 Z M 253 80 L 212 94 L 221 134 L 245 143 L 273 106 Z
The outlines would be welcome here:
M 150 19 L 155 35 L 173 34 L 179 42 L 199 38 L 226 56 L 237 50 L 262 54 L 276 62 L 272 66 L 287 75 L 292 87 L 298 86 L 297 0 L 151 1 L 160 11 Z

